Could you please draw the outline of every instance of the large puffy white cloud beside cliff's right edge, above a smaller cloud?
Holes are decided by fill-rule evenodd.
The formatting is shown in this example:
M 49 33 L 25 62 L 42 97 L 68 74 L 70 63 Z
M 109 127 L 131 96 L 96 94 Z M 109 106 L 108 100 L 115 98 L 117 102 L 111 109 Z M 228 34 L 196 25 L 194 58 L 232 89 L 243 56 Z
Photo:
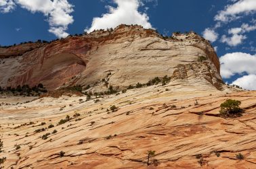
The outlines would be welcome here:
M 256 74 L 256 55 L 227 53 L 220 57 L 219 61 L 221 63 L 221 77 L 223 78 L 230 78 L 236 73 Z

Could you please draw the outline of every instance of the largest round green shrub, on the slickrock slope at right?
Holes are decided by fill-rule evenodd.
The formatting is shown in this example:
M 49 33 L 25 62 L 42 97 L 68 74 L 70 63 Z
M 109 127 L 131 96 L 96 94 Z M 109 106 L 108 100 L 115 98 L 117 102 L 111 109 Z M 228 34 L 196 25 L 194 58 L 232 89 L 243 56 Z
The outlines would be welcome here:
M 219 114 L 224 117 L 236 117 L 240 116 L 242 109 L 239 107 L 241 102 L 239 100 L 228 99 L 221 103 L 221 110 Z

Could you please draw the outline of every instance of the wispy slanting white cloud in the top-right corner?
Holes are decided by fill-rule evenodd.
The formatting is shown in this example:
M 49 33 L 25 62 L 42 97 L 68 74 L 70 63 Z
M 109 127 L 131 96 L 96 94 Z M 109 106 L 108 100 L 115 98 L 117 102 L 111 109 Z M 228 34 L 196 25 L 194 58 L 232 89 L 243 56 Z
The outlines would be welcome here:
M 224 10 L 219 11 L 214 19 L 220 22 L 231 22 L 232 20 L 240 18 L 242 14 L 248 15 L 256 11 L 255 0 L 239 0 L 233 2 L 234 4 L 227 5 Z

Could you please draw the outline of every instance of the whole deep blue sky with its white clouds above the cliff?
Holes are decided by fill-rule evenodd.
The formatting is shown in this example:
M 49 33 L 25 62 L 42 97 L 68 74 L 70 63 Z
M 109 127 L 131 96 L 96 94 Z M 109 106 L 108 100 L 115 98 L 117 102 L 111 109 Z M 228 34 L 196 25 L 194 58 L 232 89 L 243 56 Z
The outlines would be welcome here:
M 256 90 L 255 0 L 0 0 L 0 44 L 142 24 L 211 40 L 224 81 Z

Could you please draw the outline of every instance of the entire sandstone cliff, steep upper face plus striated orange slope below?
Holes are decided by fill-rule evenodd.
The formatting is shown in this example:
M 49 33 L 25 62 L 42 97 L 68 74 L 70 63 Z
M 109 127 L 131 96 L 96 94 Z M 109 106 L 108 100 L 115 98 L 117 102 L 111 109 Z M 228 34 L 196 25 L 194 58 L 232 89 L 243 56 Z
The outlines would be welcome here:
M 90 99 L 0 95 L 5 168 L 255 168 L 256 93 L 223 85 L 211 44 L 194 32 L 168 38 L 121 25 L 0 48 L 0 58 L 2 87 L 97 92 L 171 77 Z M 242 102 L 242 116 L 219 116 L 228 98 Z M 149 165 L 147 151 L 155 151 Z

